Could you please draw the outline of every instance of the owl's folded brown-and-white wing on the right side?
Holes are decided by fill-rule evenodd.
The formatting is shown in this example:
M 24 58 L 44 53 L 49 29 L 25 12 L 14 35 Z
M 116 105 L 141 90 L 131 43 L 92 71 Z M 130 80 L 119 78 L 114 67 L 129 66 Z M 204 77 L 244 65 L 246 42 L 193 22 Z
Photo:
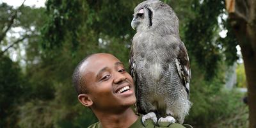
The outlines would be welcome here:
M 191 78 L 191 71 L 189 65 L 188 51 L 183 42 L 179 45 L 180 51 L 178 53 L 176 61 L 176 67 L 179 72 L 179 76 L 184 81 L 186 92 L 188 93 L 189 99 L 189 81 Z

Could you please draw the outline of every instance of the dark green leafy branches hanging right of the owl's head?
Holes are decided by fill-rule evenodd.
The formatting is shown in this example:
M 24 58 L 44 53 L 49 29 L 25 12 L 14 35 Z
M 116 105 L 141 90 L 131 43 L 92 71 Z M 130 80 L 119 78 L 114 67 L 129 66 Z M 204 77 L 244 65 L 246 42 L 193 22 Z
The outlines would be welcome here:
M 209 79 L 216 75 L 218 62 L 223 60 L 222 56 L 227 58 L 230 65 L 234 63 L 233 56 L 236 56 L 236 49 L 233 44 L 236 40 L 230 33 L 225 39 L 221 39 L 218 35 L 220 31 L 218 17 L 225 13 L 225 2 L 209 0 L 200 2 L 202 1 L 193 1 L 191 4 L 191 12 L 195 17 L 186 22 L 184 42 L 186 42 L 189 54 L 192 55 L 191 60 L 195 59 L 198 64 L 202 65 L 202 70 L 207 70 L 205 75 L 206 79 Z M 220 18 L 223 26 L 228 27 L 225 19 Z

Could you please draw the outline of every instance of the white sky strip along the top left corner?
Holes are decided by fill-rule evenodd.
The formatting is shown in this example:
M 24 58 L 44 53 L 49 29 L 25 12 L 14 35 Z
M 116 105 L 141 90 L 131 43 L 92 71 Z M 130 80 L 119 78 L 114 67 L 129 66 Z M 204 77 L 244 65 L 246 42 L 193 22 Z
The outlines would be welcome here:
M 15 8 L 19 7 L 24 0 L 0 0 L 0 3 L 7 3 L 8 5 L 12 5 Z M 45 7 L 46 0 L 26 0 L 26 6 L 35 6 L 36 8 Z

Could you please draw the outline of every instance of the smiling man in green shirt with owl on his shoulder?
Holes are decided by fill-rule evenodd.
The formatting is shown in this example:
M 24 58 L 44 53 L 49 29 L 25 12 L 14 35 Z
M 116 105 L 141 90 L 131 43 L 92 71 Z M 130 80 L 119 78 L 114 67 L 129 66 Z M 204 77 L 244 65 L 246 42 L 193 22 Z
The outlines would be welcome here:
M 84 58 L 74 70 L 73 83 L 78 100 L 99 119 L 90 128 L 145 127 L 141 116 L 131 108 L 136 102 L 132 77 L 115 56 L 97 53 Z M 154 127 L 150 120 L 145 125 Z M 169 127 L 183 126 L 171 124 Z

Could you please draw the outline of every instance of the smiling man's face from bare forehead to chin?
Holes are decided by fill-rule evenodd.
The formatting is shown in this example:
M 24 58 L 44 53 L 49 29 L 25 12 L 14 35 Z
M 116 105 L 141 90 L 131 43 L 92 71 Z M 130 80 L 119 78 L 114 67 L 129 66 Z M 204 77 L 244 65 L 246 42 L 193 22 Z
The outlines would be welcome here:
M 92 107 L 118 111 L 136 102 L 132 77 L 111 54 L 95 54 L 81 66 Z

